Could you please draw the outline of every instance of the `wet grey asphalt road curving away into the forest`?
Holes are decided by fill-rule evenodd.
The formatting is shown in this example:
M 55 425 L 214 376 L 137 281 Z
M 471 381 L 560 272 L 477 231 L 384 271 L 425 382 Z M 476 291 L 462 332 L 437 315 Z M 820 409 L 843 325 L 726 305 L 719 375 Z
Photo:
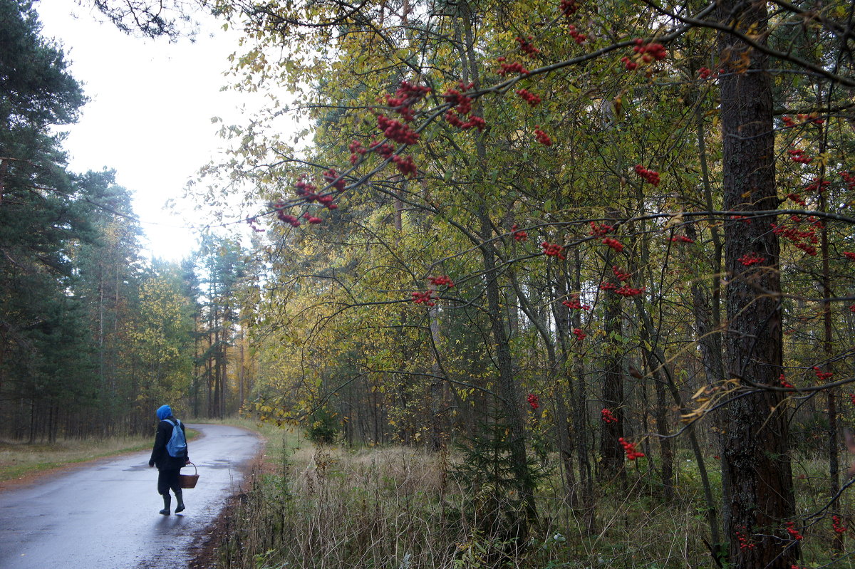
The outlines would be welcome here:
M 184 490 L 184 512 L 157 513 L 163 500 L 157 494 L 157 470 L 148 465 L 150 451 L 99 460 L 32 486 L 0 492 L 0 567 L 186 566 L 193 541 L 238 490 L 241 467 L 260 449 L 260 440 L 250 431 L 187 426 L 203 437 L 188 443 L 199 482 Z M 181 472 L 192 474 L 193 468 Z

